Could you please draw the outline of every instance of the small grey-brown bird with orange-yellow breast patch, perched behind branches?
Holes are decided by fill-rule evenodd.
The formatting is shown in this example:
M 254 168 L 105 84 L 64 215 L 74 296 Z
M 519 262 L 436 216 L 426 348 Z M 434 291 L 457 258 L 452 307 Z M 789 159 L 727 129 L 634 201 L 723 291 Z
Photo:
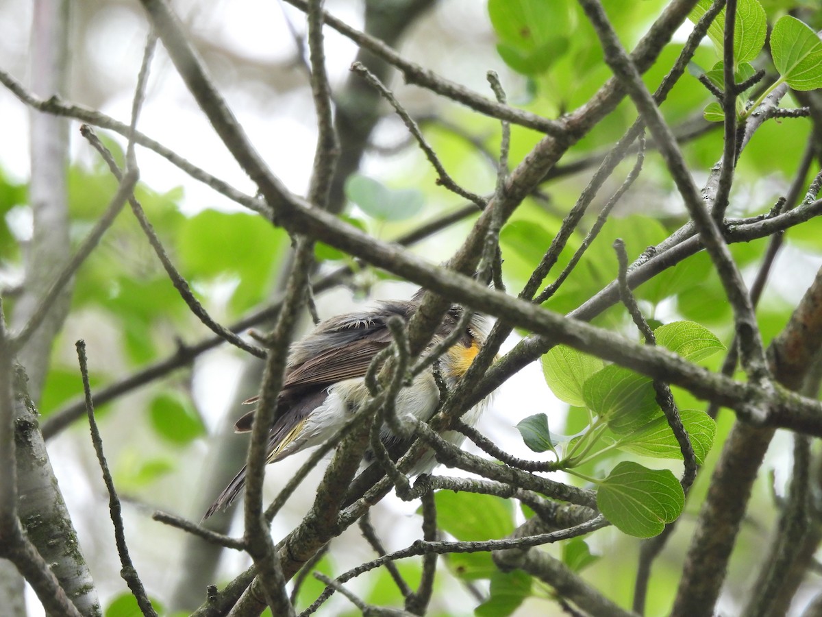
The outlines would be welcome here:
M 418 308 L 422 295 L 420 290 L 411 300 L 382 302 L 370 310 L 326 319 L 311 334 L 293 345 L 277 400 L 281 415 L 269 432 L 267 463 L 281 461 L 294 452 L 325 443 L 343 428 L 369 397 L 365 384 L 369 364 L 393 340 L 387 326 L 388 320 L 396 316 L 408 322 Z M 454 332 L 462 315 L 463 308 L 452 306 L 437 328 L 428 349 Z M 468 370 L 486 336 L 487 319 L 483 315 L 474 314 L 455 344 L 441 356 L 439 370 L 449 389 Z M 436 411 L 439 400 L 440 389 L 436 385 L 433 370 L 426 369 L 400 390 L 395 402 L 397 416 L 400 421 L 409 415 L 419 420 L 429 420 Z M 466 412 L 462 420 L 473 426 L 485 406 L 487 399 Z M 250 411 L 237 420 L 234 424 L 235 432 L 249 432 L 252 429 L 253 415 L 254 411 Z M 463 441 L 463 435 L 454 431 L 443 434 L 443 437 L 455 444 Z M 384 426 L 381 438 L 387 443 L 396 437 Z M 412 474 L 428 473 L 434 466 L 436 461 L 433 453 L 428 452 L 417 463 Z M 245 482 L 246 467 L 243 466 L 219 494 L 204 518 L 231 505 Z

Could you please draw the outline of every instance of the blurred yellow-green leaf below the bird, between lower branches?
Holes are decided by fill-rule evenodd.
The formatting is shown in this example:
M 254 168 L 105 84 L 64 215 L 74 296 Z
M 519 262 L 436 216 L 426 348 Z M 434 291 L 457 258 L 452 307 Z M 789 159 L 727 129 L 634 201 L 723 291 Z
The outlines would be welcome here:
M 437 491 L 436 522 L 460 541 L 502 538 L 514 531 L 510 499 L 476 493 Z

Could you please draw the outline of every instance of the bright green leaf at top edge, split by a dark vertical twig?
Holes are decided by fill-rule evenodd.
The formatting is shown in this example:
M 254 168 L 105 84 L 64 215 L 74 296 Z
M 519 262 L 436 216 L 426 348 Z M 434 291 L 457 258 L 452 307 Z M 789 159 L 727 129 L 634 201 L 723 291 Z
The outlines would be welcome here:
M 700 0 L 690 12 L 690 20 L 696 23 L 708 12 L 712 0 Z M 723 55 L 725 9 L 718 13 L 708 28 L 708 38 L 713 41 L 719 56 Z M 757 0 L 739 0 L 733 26 L 734 63 L 750 62 L 756 58 L 765 43 L 767 20 L 764 8 Z

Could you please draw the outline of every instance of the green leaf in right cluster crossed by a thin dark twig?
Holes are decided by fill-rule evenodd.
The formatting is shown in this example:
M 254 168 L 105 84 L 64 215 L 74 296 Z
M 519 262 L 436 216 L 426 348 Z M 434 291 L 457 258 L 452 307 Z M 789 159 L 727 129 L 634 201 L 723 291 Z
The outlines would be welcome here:
M 702 465 L 713 446 L 717 433 L 717 423 L 704 411 L 692 409 L 680 410 L 679 416 L 690 437 L 690 445 L 698 465 Z M 661 417 L 645 424 L 617 442 L 617 448 L 634 452 L 643 457 L 677 458 L 682 460 L 679 442 L 674 436 L 667 418 Z

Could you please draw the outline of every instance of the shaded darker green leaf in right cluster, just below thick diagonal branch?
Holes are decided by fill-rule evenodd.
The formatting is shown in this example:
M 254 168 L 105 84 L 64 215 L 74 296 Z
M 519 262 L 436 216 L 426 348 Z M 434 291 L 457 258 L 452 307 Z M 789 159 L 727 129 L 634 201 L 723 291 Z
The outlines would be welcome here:
M 651 378 L 609 364 L 585 381 L 585 406 L 617 434 L 630 433 L 662 413 Z

